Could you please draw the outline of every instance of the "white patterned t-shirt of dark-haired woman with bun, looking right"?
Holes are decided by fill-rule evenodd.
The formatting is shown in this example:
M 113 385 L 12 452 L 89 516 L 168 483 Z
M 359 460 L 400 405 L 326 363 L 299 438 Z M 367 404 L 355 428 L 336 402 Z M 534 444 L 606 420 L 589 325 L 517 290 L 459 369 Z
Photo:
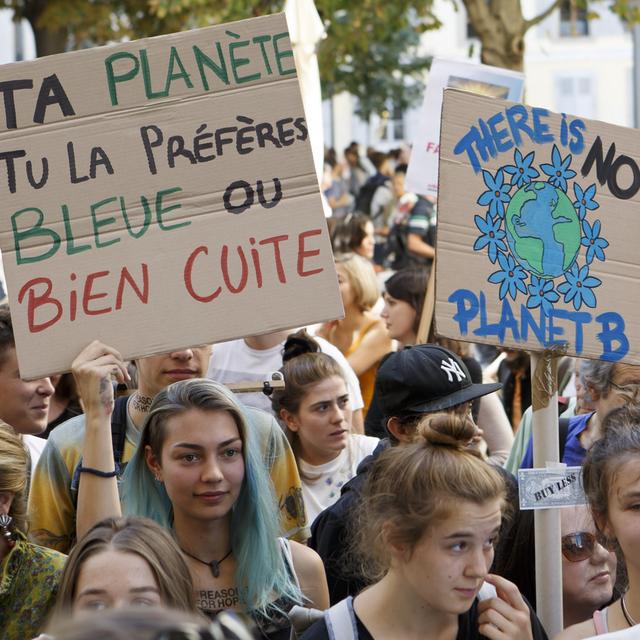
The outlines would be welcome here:
M 334 460 L 320 465 L 298 460 L 302 497 L 309 524 L 320 512 L 338 500 L 343 485 L 356 475 L 358 465 L 373 453 L 379 442 L 378 438 L 352 433 L 349 436 L 349 445 Z M 310 479 L 305 480 L 305 477 Z

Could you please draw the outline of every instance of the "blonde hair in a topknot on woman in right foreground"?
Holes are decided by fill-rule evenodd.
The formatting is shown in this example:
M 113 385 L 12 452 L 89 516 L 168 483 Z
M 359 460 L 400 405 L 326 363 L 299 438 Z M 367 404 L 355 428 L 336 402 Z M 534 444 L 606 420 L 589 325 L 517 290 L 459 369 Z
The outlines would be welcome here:
M 477 427 L 468 416 L 426 415 L 411 444 L 387 449 L 372 465 L 358 517 L 355 553 L 367 580 L 391 566 L 390 544 L 412 553 L 429 527 L 445 520 L 456 502 L 505 504 L 500 472 L 470 444 Z

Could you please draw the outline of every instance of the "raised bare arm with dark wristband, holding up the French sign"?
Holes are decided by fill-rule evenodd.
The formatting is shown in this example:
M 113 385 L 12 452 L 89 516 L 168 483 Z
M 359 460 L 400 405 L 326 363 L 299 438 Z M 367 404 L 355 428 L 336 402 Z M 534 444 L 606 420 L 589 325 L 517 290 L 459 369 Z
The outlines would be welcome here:
M 71 365 L 85 412 L 85 438 L 78 489 L 78 540 L 97 522 L 122 515 L 111 443 L 112 378 L 129 379 L 120 354 L 94 340 Z

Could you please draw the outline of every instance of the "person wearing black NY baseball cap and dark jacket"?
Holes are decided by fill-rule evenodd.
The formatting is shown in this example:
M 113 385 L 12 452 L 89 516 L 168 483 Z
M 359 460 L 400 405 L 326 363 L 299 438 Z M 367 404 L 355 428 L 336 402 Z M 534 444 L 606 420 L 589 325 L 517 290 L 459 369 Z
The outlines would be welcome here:
M 385 357 L 378 369 L 376 393 L 389 439 L 362 461 L 357 475 L 342 488 L 340 499 L 316 518 L 311 529 L 309 546 L 324 562 L 332 604 L 355 595 L 365 585 L 350 559 L 351 515 L 380 452 L 388 446 L 410 443 L 425 414 L 446 411 L 470 415 L 472 400 L 500 387 L 499 383 L 474 384 L 464 362 L 437 345 L 406 347 Z

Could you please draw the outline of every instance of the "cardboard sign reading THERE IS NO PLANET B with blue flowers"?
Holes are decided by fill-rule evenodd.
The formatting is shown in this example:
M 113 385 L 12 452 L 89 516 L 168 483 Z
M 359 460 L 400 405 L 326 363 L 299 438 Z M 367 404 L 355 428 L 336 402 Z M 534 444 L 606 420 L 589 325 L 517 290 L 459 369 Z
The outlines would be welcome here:
M 437 331 L 640 363 L 640 132 L 446 90 Z

